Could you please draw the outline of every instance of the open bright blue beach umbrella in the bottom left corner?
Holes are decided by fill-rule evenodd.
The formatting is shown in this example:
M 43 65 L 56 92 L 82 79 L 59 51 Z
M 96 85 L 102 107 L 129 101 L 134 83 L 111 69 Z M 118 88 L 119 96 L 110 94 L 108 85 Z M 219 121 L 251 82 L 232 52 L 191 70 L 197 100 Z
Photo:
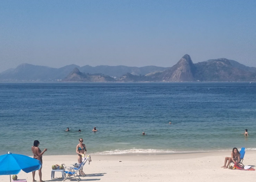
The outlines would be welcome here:
M 39 170 L 41 168 L 41 162 L 31 157 L 12 154 L 8 152 L 5 155 L 0 155 L 0 175 L 18 174 L 21 170 L 26 173 Z

